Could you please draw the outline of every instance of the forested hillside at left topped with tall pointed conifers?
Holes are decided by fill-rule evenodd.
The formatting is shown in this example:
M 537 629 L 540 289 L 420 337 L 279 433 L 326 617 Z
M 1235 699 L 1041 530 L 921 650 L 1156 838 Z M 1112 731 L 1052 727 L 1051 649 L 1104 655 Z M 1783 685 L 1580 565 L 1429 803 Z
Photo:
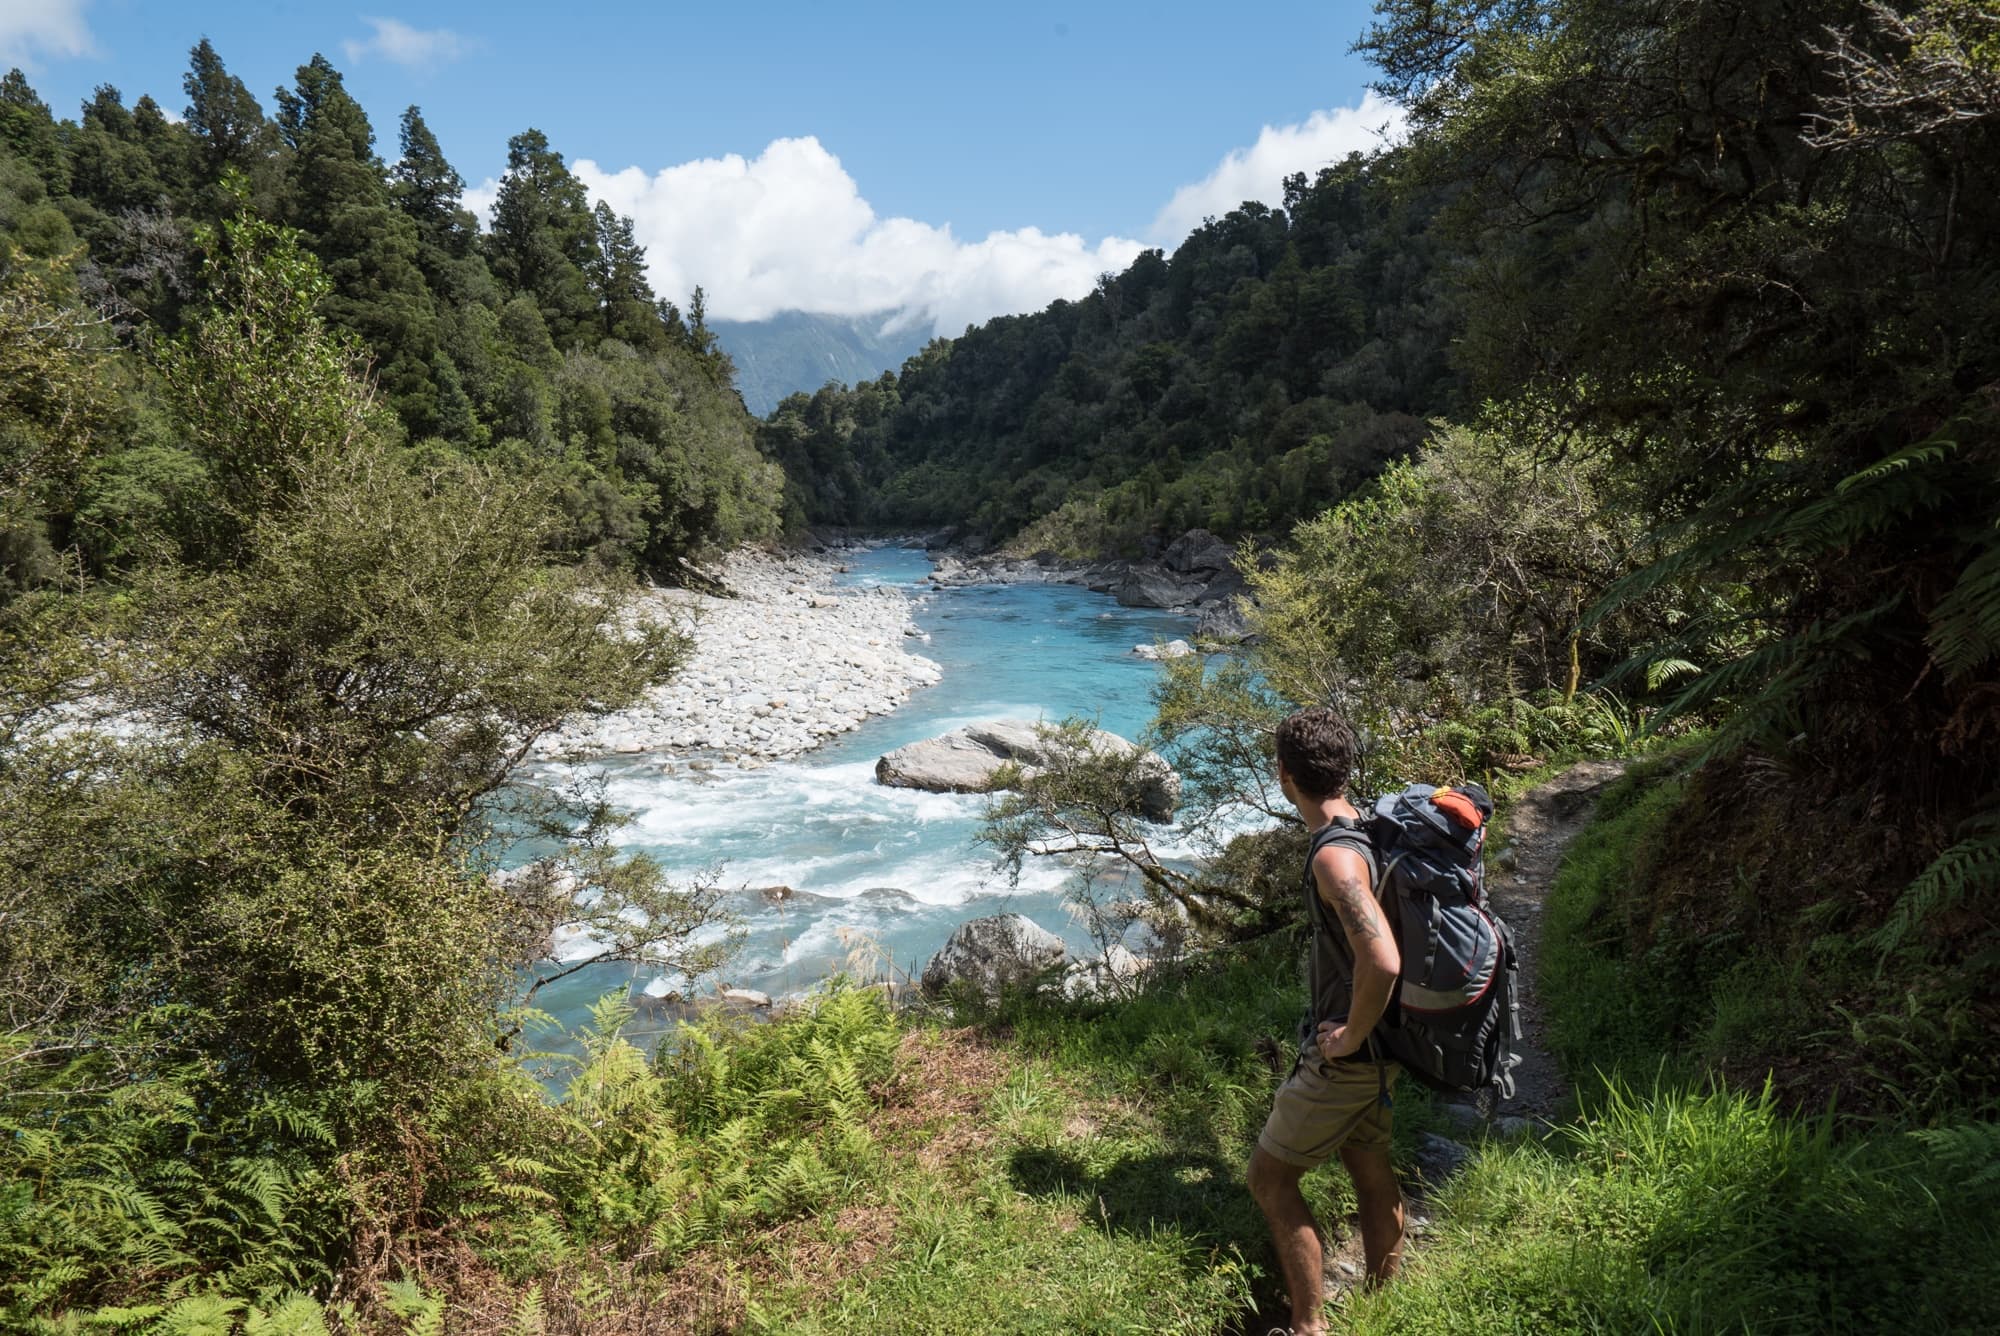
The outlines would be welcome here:
M 180 118 L 98 88 L 58 120 L 14 70 L 0 84 L 0 272 L 78 312 L 118 408 L 88 466 L 10 516 L 8 578 L 56 552 L 94 570 L 186 544 L 214 478 L 164 422 L 146 348 L 226 300 L 204 264 L 238 212 L 294 228 L 328 276 L 398 436 L 546 480 L 550 542 L 624 568 L 774 532 L 776 472 L 702 320 L 652 292 L 632 224 L 538 130 L 508 142 L 494 226 L 418 108 L 388 152 L 340 72 L 314 56 L 264 104 L 204 40 Z

